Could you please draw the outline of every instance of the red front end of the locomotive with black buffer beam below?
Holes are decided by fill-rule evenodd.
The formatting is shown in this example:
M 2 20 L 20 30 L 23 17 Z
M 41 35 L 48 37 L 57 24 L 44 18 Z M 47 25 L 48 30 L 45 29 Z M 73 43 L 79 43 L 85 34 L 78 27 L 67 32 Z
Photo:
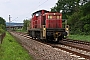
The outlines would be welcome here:
M 61 13 L 47 13 L 46 32 L 48 41 L 59 42 L 66 36 L 65 28 L 62 28 Z

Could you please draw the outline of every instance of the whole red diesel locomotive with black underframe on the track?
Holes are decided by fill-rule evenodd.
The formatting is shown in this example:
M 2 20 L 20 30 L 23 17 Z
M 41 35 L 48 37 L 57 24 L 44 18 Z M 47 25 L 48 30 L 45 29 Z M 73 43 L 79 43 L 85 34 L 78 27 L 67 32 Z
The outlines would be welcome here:
M 39 10 L 32 14 L 29 35 L 32 38 L 45 39 L 59 42 L 66 36 L 65 28 L 62 28 L 62 14 Z

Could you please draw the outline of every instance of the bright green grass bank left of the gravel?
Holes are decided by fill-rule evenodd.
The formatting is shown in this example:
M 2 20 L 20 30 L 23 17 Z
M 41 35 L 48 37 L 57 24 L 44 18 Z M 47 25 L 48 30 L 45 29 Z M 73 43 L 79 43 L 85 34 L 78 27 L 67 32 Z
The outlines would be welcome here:
M 28 52 L 8 32 L 0 44 L 0 60 L 33 60 Z

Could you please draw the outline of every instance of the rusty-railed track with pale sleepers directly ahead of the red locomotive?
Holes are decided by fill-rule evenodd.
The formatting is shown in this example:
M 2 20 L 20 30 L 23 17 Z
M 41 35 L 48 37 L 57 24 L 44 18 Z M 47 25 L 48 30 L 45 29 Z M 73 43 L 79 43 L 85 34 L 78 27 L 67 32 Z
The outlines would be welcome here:
M 85 50 L 80 50 L 78 48 L 75 48 L 75 47 L 73 48 L 71 46 L 66 46 L 66 45 L 51 45 L 51 46 L 54 48 L 58 48 L 58 49 L 66 51 L 66 52 L 75 54 L 77 56 L 80 56 L 80 57 L 83 57 L 86 59 L 90 59 L 90 52 L 87 52 Z

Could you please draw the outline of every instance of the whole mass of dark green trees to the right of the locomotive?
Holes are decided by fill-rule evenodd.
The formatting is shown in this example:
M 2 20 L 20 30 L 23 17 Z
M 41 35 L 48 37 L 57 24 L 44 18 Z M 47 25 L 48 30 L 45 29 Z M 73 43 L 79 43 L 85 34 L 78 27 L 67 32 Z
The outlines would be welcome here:
M 52 12 L 62 10 L 71 34 L 90 34 L 90 0 L 58 0 Z

